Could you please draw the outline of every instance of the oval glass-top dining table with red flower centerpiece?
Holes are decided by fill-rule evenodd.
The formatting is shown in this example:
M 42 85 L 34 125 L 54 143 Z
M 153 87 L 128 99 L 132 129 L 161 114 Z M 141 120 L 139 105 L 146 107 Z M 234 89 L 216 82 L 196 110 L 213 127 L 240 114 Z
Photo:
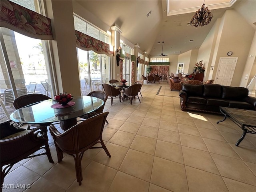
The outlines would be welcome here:
M 15 110 L 10 114 L 10 119 L 14 122 L 40 125 L 61 121 L 67 123 L 61 124 L 61 128 L 66 130 L 76 124 L 77 117 L 94 112 L 104 104 L 104 101 L 91 96 L 75 96 L 72 103 L 72 106 L 53 108 L 53 105 L 57 104 L 56 101 L 44 100 Z M 72 124 L 69 124 L 68 120 L 72 120 Z

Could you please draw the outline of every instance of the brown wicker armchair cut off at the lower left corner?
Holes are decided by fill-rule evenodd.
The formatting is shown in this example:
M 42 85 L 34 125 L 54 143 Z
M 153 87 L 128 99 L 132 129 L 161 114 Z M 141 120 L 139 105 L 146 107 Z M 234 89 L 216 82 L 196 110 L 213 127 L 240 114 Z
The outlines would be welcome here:
M 17 129 L 12 126 L 13 122 L 10 122 L 10 120 L 1 122 L 0 125 L 1 191 L 4 177 L 12 166 L 20 160 L 47 155 L 49 162 L 54 163 L 48 144 L 46 127 L 41 126 L 32 130 Z M 46 152 L 32 155 L 41 149 L 45 149 Z

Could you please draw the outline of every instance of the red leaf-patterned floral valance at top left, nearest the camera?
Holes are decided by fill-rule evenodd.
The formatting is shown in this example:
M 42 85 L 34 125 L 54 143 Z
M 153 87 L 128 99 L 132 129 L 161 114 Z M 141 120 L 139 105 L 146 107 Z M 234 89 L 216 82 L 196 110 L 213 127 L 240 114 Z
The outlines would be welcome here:
M 49 18 L 8 0 L 1 0 L 0 26 L 31 38 L 53 39 Z

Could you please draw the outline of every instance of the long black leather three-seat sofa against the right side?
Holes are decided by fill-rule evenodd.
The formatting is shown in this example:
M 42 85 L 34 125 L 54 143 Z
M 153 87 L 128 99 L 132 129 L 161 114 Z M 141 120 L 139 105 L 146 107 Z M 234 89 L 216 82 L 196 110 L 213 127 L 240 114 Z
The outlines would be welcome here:
M 248 96 L 248 89 L 243 87 L 184 84 L 179 95 L 183 111 L 196 110 L 220 114 L 220 106 L 256 110 L 256 98 Z

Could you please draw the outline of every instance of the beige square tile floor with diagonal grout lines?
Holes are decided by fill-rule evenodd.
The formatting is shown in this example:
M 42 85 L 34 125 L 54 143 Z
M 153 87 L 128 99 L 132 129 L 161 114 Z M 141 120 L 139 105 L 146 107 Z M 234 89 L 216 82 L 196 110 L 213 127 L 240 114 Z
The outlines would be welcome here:
M 161 90 L 159 91 L 159 88 Z M 158 93 L 158 95 L 157 95 Z M 83 180 L 76 182 L 74 159 L 64 154 L 54 164 L 46 156 L 14 165 L 3 192 L 256 192 L 256 135 L 234 144 L 241 129 L 222 116 L 180 110 L 178 91 L 166 81 L 142 86 L 141 103 L 114 99 L 103 140 L 111 154 L 92 149 L 82 160 Z

